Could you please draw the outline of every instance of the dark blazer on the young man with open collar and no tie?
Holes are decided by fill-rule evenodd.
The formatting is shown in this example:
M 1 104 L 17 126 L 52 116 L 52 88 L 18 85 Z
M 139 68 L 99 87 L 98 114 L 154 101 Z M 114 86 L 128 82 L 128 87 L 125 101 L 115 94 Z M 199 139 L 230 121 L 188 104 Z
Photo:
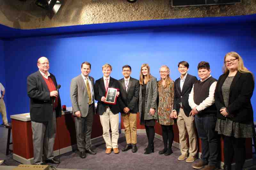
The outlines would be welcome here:
M 180 89 L 180 78 L 177 78 L 174 82 L 174 101 L 173 110 L 176 110 L 177 114 L 180 112 L 180 102 L 184 107 L 183 110 L 186 116 L 189 116 L 191 107 L 188 104 L 188 95 L 192 90 L 193 84 L 197 81 L 195 76 L 187 74 L 184 85 L 182 87 L 182 92 Z

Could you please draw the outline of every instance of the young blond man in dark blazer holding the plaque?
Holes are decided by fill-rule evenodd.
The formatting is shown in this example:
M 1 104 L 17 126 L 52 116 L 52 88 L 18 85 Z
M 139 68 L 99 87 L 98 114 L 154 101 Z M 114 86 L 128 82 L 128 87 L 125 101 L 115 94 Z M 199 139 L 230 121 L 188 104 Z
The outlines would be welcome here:
M 103 77 L 96 80 L 94 95 L 95 100 L 98 101 L 97 113 L 100 115 L 100 123 L 103 129 L 102 136 L 105 140 L 107 148 L 106 154 L 110 154 L 112 148 L 114 150 L 114 153 L 117 154 L 119 153 L 117 141 L 119 137 L 118 125 L 120 112 L 120 97 L 118 96 L 120 85 L 116 79 L 110 77 L 111 71 L 112 66 L 110 64 L 104 64 L 102 66 Z M 112 131 L 112 139 L 110 138 L 109 133 L 109 122 Z

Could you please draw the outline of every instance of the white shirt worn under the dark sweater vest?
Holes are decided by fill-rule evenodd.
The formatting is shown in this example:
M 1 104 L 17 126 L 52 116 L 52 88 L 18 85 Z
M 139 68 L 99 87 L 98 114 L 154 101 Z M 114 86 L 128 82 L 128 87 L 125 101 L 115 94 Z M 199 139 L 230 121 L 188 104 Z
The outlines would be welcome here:
M 210 78 L 210 77 L 212 77 L 212 76 L 210 75 L 208 78 Z M 207 80 L 208 78 L 206 78 L 205 80 Z M 200 81 L 203 82 L 202 79 Z M 200 112 L 200 111 L 204 110 L 205 108 L 212 106 L 212 104 L 214 103 L 214 92 L 215 92 L 216 84 L 217 84 L 217 81 L 212 83 L 212 85 L 210 86 L 210 89 L 209 89 L 209 96 L 206 99 L 204 99 L 204 101 L 202 101 L 202 103 L 200 103 L 199 105 L 197 105 L 194 102 L 194 85 L 193 85 L 192 90 L 189 93 L 189 97 L 188 97 L 188 104 L 191 107 L 191 109 L 196 107 L 196 110 L 198 112 Z

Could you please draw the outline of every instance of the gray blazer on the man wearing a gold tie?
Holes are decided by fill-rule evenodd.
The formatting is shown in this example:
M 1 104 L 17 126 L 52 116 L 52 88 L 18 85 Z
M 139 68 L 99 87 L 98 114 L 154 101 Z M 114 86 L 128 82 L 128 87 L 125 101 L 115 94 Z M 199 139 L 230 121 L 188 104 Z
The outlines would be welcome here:
M 94 94 L 94 78 L 89 76 L 91 82 L 92 82 L 92 91 Z M 82 75 L 80 74 L 79 76 L 73 78 L 71 80 L 71 85 L 70 85 L 70 98 L 71 98 L 71 103 L 72 103 L 72 108 L 73 108 L 73 115 L 75 115 L 76 111 L 80 111 L 82 117 L 86 117 L 88 114 L 88 102 L 89 102 L 89 97 L 87 94 L 87 89 L 84 83 L 84 79 Z M 94 104 L 94 95 L 92 96 L 93 99 L 93 114 L 95 114 L 95 104 Z

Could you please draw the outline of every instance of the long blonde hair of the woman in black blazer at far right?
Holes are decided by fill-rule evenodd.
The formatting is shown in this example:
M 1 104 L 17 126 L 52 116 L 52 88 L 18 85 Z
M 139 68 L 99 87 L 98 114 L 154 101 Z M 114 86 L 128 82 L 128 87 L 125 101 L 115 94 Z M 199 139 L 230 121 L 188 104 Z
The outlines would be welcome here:
M 238 67 L 237 67 L 237 70 L 238 70 L 239 72 L 241 72 L 241 73 L 251 73 L 251 74 L 252 74 L 251 71 L 249 71 L 246 67 L 244 67 L 244 62 L 243 62 L 242 57 L 241 57 L 238 53 L 236 53 L 236 52 L 234 52 L 234 51 L 231 51 L 231 52 L 227 53 L 227 54 L 224 56 L 223 72 L 224 72 L 225 74 L 227 74 L 227 73 L 229 72 L 229 70 L 228 70 L 228 68 L 226 67 L 226 64 L 225 64 L 225 61 L 226 61 L 227 56 L 235 57 L 235 58 L 238 60 Z M 253 74 L 252 74 L 252 76 L 253 76 Z M 253 77 L 254 77 L 254 76 L 253 76 Z

